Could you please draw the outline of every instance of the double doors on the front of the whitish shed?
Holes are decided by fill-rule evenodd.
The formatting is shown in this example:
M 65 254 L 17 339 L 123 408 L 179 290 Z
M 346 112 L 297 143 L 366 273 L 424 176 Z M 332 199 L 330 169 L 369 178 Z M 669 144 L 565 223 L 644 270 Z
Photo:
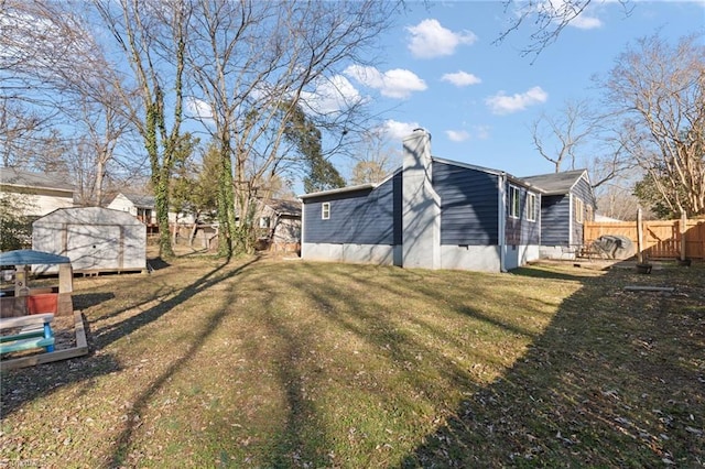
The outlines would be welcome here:
M 66 255 L 74 270 L 120 268 L 119 226 L 68 225 L 66 231 Z

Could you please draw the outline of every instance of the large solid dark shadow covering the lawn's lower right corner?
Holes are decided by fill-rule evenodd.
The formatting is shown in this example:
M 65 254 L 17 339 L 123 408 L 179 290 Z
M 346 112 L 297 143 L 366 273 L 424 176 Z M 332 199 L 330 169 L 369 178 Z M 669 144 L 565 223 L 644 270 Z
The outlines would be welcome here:
M 401 467 L 702 466 L 705 312 L 686 305 L 705 287 L 621 290 L 633 281 L 585 279 L 525 356 Z

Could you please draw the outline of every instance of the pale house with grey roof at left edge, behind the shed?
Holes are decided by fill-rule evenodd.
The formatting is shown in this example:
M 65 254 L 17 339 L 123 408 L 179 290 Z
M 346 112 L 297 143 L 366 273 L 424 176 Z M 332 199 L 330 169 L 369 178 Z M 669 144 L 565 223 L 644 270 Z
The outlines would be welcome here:
M 14 205 L 33 218 L 74 206 L 74 186 L 65 178 L 13 167 L 0 168 L 0 194 L 17 196 Z

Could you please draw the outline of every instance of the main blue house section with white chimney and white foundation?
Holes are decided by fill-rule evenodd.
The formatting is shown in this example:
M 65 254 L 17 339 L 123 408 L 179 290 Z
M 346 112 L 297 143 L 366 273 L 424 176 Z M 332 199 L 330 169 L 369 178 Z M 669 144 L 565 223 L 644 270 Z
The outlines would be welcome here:
M 302 258 L 500 272 L 539 258 L 542 190 L 508 173 L 431 156 L 403 140 L 403 166 L 379 184 L 301 196 Z

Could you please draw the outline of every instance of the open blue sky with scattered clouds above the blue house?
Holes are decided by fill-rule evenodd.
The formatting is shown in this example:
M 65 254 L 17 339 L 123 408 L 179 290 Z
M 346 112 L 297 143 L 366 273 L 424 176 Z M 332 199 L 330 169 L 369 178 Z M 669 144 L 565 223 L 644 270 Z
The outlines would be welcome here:
M 423 127 L 435 156 L 517 176 L 549 173 L 553 166 L 533 148 L 532 121 L 566 100 L 598 102 L 593 77 L 605 76 L 638 37 L 660 31 L 676 41 L 705 29 L 703 0 L 630 8 L 627 15 L 617 1 L 594 0 L 534 59 L 521 55 L 529 25 L 492 44 L 508 21 L 501 1 L 411 3 L 382 37 L 382 62 L 348 67 L 346 86 L 384 112 L 392 145 L 401 148 L 402 135 Z

